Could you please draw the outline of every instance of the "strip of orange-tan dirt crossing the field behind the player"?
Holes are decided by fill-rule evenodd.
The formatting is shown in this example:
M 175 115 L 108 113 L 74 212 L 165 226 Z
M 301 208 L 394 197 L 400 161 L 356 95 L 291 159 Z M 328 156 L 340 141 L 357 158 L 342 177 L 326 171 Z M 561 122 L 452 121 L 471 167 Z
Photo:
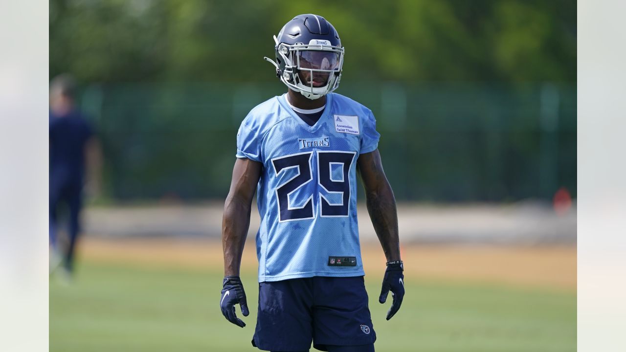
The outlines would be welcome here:
M 197 239 L 96 239 L 86 237 L 80 255 L 100 261 L 165 264 L 214 270 L 222 267 L 222 244 Z M 367 274 L 381 276 L 385 258 L 379 246 L 362 248 Z M 481 281 L 513 286 L 576 289 L 574 246 L 414 245 L 402 249 L 406 275 L 431 279 Z M 257 268 L 253 242 L 242 267 Z

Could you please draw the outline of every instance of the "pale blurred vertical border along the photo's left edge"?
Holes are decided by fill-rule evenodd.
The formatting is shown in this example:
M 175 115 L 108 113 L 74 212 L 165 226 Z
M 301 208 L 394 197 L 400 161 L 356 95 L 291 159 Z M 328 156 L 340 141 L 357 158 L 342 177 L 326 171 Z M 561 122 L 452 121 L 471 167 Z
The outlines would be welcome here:
M 0 1 L 0 351 L 48 350 L 48 1 Z

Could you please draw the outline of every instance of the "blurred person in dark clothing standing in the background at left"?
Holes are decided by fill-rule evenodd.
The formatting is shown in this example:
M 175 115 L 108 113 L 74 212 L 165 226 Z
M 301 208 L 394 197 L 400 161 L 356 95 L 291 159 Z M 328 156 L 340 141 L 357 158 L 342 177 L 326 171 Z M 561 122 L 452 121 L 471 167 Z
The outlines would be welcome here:
M 49 246 L 50 272 L 61 265 L 63 276 L 73 272 L 74 250 L 80 233 L 86 160 L 95 155 L 93 129 L 74 103 L 76 81 L 69 74 L 50 83 L 49 110 Z M 92 156 L 91 159 L 94 157 Z M 93 165 L 93 160 L 89 162 Z M 93 174 L 93 172 L 90 172 Z M 69 209 L 66 246 L 59 246 L 59 210 Z

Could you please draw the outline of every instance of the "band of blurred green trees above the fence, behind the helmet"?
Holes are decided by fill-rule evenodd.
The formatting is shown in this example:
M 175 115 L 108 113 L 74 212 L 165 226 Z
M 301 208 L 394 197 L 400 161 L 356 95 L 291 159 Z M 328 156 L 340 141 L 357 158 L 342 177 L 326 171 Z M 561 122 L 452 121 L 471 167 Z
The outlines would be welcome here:
M 83 81 L 269 81 L 272 35 L 325 16 L 350 80 L 574 81 L 573 0 L 51 0 L 50 75 Z

